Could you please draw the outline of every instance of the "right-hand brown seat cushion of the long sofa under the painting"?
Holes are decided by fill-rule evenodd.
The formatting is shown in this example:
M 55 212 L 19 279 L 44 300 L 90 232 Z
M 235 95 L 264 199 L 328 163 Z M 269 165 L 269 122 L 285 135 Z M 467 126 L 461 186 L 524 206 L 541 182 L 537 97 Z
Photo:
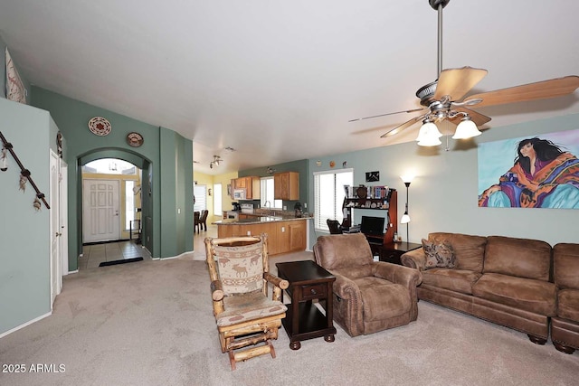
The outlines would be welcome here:
M 488 273 L 475 283 L 472 294 L 539 315 L 554 316 L 556 311 L 555 284 L 543 280 Z

